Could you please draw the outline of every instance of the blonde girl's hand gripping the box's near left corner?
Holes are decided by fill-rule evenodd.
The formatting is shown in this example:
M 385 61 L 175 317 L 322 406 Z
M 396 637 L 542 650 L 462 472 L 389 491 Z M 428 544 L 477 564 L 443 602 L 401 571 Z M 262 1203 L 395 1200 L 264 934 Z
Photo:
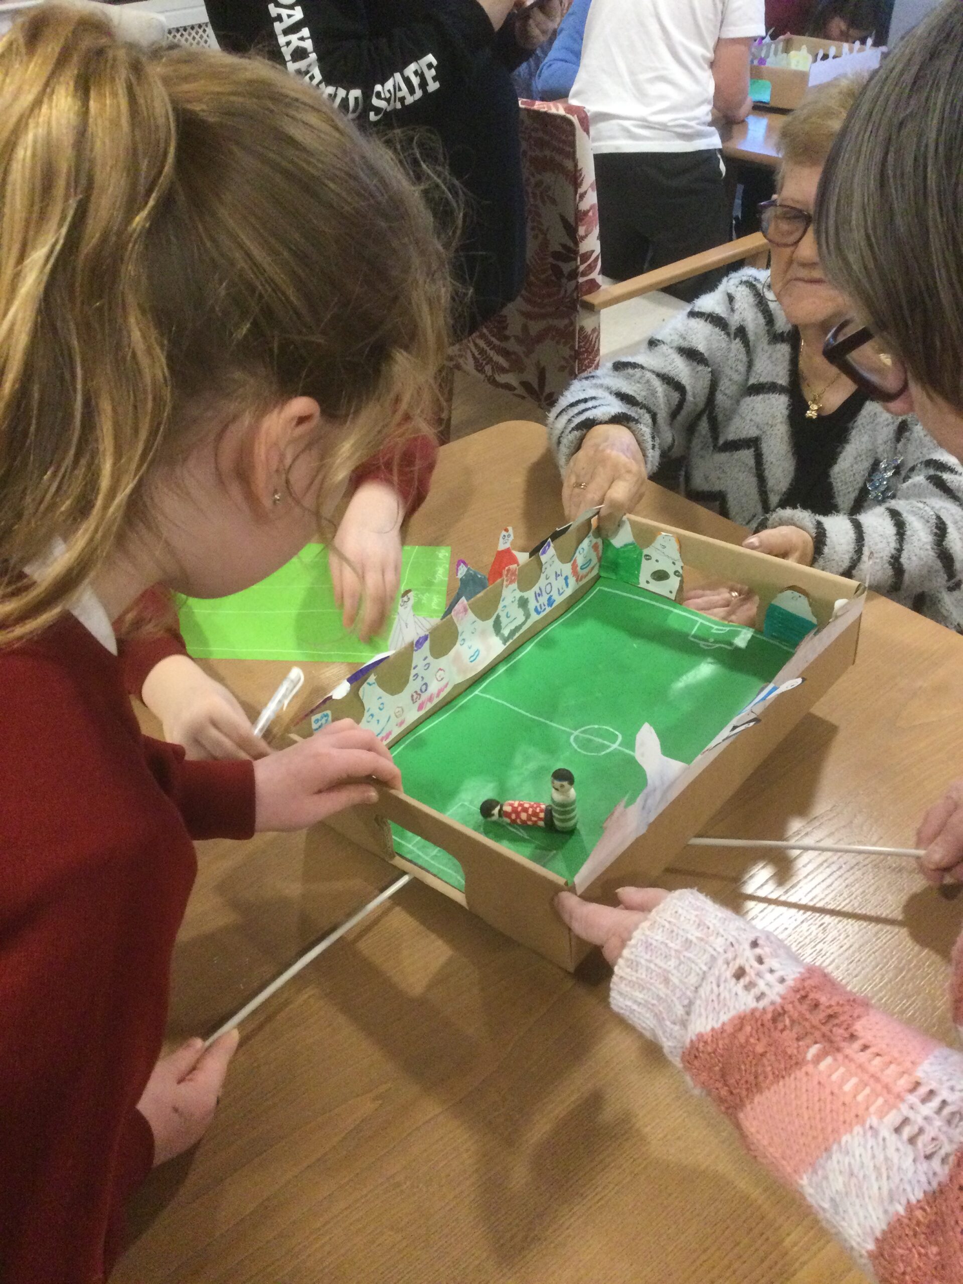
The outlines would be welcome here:
M 381 741 L 349 718 L 254 763 L 254 828 L 307 829 L 357 802 L 376 802 L 375 782 L 401 787 Z

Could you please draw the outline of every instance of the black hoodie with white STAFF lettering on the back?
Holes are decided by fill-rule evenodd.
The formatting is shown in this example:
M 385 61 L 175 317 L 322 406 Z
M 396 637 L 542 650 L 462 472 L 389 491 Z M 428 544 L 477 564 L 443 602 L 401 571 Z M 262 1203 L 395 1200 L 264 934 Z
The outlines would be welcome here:
M 511 17 L 496 33 L 478 0 L 207 0 L 207 12 L 222 49 L 267 54 L 360 125 L 438 134 L 467 194 L 464 333 L 519 294 L 525 198 L 510 71 L 529 55 Z

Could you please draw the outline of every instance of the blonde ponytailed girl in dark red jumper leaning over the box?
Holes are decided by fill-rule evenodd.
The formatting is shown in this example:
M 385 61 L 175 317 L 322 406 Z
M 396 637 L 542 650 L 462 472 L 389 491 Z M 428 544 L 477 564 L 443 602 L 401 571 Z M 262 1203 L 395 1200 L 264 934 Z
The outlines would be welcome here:
M 398 770 L 351 723 L 257 763 L 143 737 L 109 621 L 285 562 L 416 433 L 447 263 L 398 164 L 256 60 L 44 5 L 0 42 L 0 1262 L 100 1280 L 234 1039 L 158 1062 L 191 838 Z M 157 1066 L 155 1066 L 157 1063 Z

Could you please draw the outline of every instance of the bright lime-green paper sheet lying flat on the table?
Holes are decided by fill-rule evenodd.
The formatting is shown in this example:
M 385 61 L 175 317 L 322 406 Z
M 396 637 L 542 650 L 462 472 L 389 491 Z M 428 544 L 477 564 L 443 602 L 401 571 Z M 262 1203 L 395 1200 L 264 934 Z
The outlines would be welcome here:
M 416 616 L 438 619 L 448 597 L 451 548 L 403 550 L 399 596 L 412 589 Z M 180 607 L 187 651 L 212 660 L 308 660 L 363 664 L 388 650 L 397 601 L 370 642 L 342 627 L 327 550 L 308 544 L 297 557 L 241 593 L 186 598 Z

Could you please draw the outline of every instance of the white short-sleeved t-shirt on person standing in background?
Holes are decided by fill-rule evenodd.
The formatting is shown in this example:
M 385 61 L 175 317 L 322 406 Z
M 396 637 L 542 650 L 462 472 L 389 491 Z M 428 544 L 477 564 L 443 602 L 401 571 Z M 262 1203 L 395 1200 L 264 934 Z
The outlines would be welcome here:
M 593 152 L 700 152 L 711 125 L 719 40 L 765 35 L 765 0 L 592 0 L 569 95 Z

